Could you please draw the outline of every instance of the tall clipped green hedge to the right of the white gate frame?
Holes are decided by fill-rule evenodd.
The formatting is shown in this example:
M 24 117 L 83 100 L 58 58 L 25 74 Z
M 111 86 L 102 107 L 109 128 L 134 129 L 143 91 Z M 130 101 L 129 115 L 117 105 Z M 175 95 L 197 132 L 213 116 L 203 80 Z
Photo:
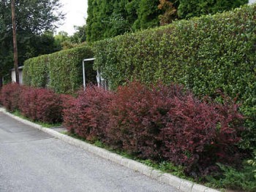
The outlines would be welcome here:
M 197 96 L 214 96 L 217 90 L 238 94 L 249 116 L 247 126 L 255 132 L 249 132 L 243 147 L 255 147 L 255 12 L 254 4 L 96 42 L 94 67 L 112 89 L 127 80 L 162 80 L 184 84 Z

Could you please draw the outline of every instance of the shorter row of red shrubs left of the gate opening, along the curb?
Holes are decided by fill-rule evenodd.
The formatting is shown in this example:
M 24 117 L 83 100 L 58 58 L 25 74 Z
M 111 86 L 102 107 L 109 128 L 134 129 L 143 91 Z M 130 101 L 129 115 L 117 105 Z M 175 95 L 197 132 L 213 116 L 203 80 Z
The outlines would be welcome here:
M 29 88 L 16 83 L 4 85 L 1 102 L 8 111 L 20 111 L 31 120 L 45 123 L 62 121 L 62 110 L 67 96 L 61 96 L 44 88 Z

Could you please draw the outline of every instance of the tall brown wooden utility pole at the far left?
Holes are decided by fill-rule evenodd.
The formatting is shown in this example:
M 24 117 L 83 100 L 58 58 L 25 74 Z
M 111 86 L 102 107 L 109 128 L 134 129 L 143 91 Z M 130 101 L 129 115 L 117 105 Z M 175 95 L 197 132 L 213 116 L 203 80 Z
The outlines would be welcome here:
M 13 35 L 13 55 L 14 55 L 14 68 L 16 82 L 20 84 L 19 71 L 18 71 L 18 48 L 16 37 L 16 21 L 15 21 L 15 0 L 12 0 L 12 35 Z

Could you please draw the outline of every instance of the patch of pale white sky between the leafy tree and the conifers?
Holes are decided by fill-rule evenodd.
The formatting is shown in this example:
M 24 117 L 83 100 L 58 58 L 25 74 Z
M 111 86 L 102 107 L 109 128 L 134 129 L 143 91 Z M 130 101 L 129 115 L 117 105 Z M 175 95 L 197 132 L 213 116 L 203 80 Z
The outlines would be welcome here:
M 72 35 L 75 32 L 74 26 L 83 26 L 86 23 L 87 0 L 60 0 L 60 2 L 63 4 L 62 10 L 66 13 L 66 19 L 56 31 L 66 31 Z

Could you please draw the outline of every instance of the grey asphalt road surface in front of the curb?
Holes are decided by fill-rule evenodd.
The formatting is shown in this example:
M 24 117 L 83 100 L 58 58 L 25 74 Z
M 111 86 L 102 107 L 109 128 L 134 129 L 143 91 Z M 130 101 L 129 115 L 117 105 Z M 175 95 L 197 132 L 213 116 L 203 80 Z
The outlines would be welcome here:
M 0 191 L 178 191 L 0 112 Z

